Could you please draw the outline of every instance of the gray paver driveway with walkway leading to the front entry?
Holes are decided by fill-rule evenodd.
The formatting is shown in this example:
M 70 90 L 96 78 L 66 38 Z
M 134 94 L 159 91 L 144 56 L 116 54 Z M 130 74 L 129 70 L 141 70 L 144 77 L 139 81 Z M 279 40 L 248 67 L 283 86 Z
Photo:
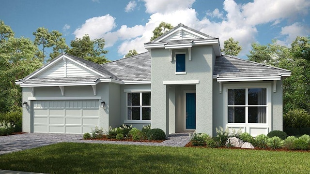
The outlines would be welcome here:
M 76 143 L 101 143 L 119 145 L 156 145 L 156 146 L 179 146 L 183 147 L 189 142 L 188 134 L 176 133 L 170 135 L 168 140 L 162 143 L 125 142 L 125 141 L 96 141 L 82 140 L 82 134 L 61 133 L 24 133 L 0 137 L 0 155 L 14 151 L 25 150 L 43 145 L 51 145 L 61 142 Z

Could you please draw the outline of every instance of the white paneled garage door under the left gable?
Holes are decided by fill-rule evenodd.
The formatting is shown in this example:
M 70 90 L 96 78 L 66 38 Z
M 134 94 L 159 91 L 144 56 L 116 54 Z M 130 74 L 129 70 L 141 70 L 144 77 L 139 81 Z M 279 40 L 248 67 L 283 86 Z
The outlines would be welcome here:
M 99 125 L 98 100 L 32 101 L 33 132 L 85 133 Z

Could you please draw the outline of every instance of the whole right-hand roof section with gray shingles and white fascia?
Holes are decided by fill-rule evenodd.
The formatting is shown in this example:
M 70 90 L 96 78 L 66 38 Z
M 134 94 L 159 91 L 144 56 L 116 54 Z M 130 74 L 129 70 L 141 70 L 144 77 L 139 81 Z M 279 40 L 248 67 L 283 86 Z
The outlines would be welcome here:
M 218 82 L 280 80 L 290 75 L 289 70 L 230 56 L 217 57 L 213 70 Z

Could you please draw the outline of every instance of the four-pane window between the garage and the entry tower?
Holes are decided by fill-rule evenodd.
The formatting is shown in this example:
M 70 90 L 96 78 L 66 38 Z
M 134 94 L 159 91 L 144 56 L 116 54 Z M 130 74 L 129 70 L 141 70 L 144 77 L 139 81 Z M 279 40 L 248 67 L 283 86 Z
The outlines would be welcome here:
M 151 92 L 127 93 L 127 120 L 151 120 Z

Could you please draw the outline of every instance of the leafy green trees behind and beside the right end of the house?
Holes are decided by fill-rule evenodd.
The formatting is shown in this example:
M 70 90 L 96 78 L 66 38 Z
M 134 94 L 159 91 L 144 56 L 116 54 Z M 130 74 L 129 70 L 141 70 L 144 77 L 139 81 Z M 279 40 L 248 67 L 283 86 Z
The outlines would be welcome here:
M 301 44 L 300 44 L 301 43 Z M 292 47 L 279 45 L 277 40 L 261 45 L 252 43 L 249 60 L 291 70 L 283 80 L 283 113 L 294 109 L 310 112 L 310 62 L 304 56 L 310 52 L 309 38 L 297 37 Z

